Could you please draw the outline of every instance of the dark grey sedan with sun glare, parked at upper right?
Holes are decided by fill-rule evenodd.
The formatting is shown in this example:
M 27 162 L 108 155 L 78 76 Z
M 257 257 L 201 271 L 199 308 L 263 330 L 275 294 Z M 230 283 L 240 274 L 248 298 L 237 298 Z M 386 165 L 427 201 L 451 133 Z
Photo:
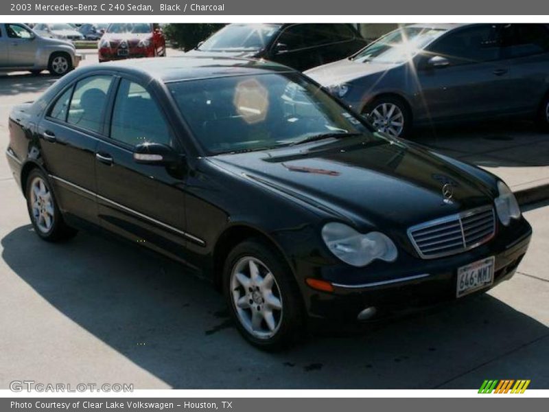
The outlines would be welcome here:
M 548 129 L 548 73 L 544 24 L 410 25 L 306 72 L 395 136 L 496 117 Z

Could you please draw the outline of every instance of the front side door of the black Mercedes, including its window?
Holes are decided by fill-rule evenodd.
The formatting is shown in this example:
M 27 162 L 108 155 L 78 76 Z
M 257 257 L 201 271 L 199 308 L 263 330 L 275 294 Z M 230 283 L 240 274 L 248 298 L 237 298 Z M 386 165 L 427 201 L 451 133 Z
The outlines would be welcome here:
M 108 138 L 95 150 L 100 222 L 132 242 L 184 258 L 183 174 L 163 165 L 136 163 L 135 147 L 146 142 L 171 146 L 183 155 L 154 89 L 121 78 Z

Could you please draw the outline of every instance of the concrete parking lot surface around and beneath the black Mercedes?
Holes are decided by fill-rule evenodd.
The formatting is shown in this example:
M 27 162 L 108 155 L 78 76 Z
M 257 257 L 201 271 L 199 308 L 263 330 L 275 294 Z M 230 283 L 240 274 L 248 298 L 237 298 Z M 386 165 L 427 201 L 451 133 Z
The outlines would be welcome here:
M 87 53 L 84 64 L 94 58 Z M 0 147 L 8 144 L 11 106 L 34 100 L 54 81 L 46 73 L 0 75 Z M 516 127 L 499 125 L 490 136 L 547 147 L 530 126 Z M 455 155 L 498 141 L 483 139 L 482 130 L 447 130 L 450 140 L 467 142 Z M 444 134 L 420 141 L 442 147 Z M 484 166 L 506 168 L 509 176 L 533 168 L 539 176 L 535 168 L 549 157 L 513 163 L 515 146 L 468 160 L 493 157 L 500 163 Z M 135 389 L 475 389 L 487 378 L 549 387 L 549 202 L 525 207 L 534 228 L 530 251 L 513 279 L 486 295 L 268 354 L 240 338 L 222 297 L 179 264 L 88 233 L 66 244 L 39 240 L 3 154 L 0 200 L 1 389 L 12 380 Z

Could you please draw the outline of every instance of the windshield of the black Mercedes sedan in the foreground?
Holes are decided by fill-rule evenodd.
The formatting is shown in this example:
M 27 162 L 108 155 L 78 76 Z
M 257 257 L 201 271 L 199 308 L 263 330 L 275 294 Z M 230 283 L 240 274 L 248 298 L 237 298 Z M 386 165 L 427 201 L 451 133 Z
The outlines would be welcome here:
M 349 134 L 374 138 L 355 115 L 296 73 L 189 80 L 168 87 L 209 155 Z

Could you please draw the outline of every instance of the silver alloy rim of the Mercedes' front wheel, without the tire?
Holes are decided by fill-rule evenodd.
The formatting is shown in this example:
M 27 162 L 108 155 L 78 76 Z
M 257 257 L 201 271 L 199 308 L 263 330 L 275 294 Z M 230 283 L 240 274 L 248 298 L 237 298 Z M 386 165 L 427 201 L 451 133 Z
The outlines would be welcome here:
M 246 256 L 233 266 L 229 284 L 237 318 L 246 331 L 257 339 L 274 336 L 282 321 L 282 297 L 269 268 Z

